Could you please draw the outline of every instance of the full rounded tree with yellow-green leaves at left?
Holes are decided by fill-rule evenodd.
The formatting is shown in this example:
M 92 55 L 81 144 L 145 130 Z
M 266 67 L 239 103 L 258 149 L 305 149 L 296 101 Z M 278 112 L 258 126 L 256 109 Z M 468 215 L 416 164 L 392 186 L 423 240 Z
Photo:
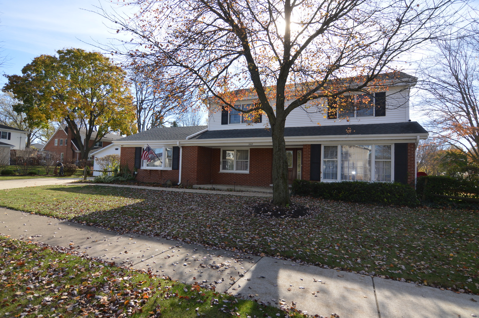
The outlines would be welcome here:
M 69 48 L 57 54 L 35 57 L 23 67 L 22 76 L 6 76 L 3 91 L 20 101 L 15 111 L 25 113 L 31 126 L 65 122 L 81 159 L 88 159 L 94 144 L 109 132 L 137 132 L 132 96 L 121 67 L 97 52 Z M 85 140 L 80 129 L 86 130 Z

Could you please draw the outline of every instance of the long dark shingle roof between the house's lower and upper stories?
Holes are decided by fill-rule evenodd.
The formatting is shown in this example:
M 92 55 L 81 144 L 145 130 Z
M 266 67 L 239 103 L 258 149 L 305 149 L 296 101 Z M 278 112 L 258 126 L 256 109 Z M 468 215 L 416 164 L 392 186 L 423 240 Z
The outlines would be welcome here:
M 349 133 L 348 133 L 349 132 Z M 344 136 L 344 135 L 376 135 L 376 134 L 424 134 L 427 133 L 417 121 L 379 124 L 328 125 L 308 127 L 286 127 L 285 137 L 301 136 Z M 203 132 L 193 139 L 218 138 L 257 138 L 271 137 L 271 130 L 263 128 L 213 130 Z

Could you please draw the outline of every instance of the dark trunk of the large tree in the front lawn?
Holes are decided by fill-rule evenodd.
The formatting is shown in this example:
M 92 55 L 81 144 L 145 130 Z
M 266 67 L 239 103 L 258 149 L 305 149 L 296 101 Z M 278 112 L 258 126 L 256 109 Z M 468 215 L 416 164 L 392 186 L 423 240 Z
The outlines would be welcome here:
M 273 204 L 279 207 L 285 207 L 290 203 L 284 132 L 285 120 L 276 118 L 276 122 L 271 126 L 273 138 Z

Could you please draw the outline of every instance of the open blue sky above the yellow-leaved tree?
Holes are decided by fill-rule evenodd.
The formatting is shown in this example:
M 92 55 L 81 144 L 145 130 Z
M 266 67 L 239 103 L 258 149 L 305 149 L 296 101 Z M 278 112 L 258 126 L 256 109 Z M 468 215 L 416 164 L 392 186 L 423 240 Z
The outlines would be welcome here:
M 54 55 L 65 47 L 98 50 L 95 42 L 106 44 L 116 35 L 94 6 L 110 9 L 105 0 L 3 0 L 0 3 L 1 55 L 11 58 L 2 74 L 21 74 L 23 66 L 42 54 Z M 86 43 L 85 43 L 86 42 Z M 3 86 L 5 77 L 0 78 Z

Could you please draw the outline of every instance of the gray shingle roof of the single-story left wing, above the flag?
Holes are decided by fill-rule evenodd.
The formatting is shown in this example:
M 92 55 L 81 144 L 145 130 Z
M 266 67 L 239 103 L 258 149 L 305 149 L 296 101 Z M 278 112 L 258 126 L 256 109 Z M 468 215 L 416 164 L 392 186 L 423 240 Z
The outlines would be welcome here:
M 183 140 L 196 132 L 205 130 L 208 126 L 188 126 L 188 127 L 160 127 L 148 129 L 144 132 L 138 132 L 134 135 L 126 136 L 117 142 L 123 141 L 150 141 L 150 140 Z

